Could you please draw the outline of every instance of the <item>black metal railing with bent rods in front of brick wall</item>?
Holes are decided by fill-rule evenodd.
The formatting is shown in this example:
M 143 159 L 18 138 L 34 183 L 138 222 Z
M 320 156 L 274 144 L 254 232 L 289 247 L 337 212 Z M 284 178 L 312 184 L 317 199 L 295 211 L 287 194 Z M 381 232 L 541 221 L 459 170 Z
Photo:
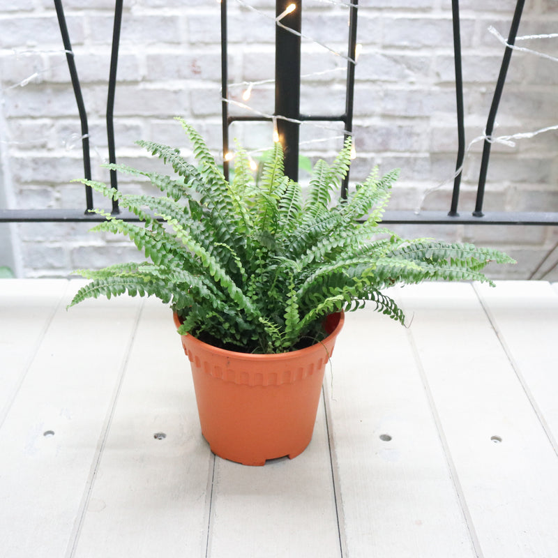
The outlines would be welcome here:
M 238 0 L 240 1 L 240 0 Z M 295 9 L 289 13 L 287 6 L 294 3 Z M 460 40 L 460 10 L 458 0 L 452 0 L 453 14 L 453 48 L 455 59 L 455 93 L 456 116 L 458 134 L 458 153 L 455 164 L 455 179 L 453 194 L 448 211 L 386 211 L 384 223 L 424 223 L 424 224 L 483 224 L 483 225 L 558 225 L 558 211 L 529 211 L 529 212 L 488 212 L 483 211 L 485 185 L 490 163 L 490 148 L 492 132 L 495 124 L 499 102 L 504 91 L 506 74 L 511 61 L 513 45 L 520 26 L 525 0 L 518 0 L 515 5 L 511 29 L 508 33 L 506 47 L 499 76 L 492 97 L 492 105 L 488 114 L 485 128 L 485 142 L 481 169 L 476 193 L 476 206 L 472 213 L 460 214 L 458 211 L 462 165 L 465 160 L 465 113 L 463 109 L 463 81 L 461 70 L 461 40 Z M 75 93 L 77 110 L 80 116 L 82 130 L 82 150 L 84 174 L 91 178 L 91 163 L 89 157 L 89 128 L 87 113 L 82 98 L 80 80 L 75 67 L 74 53 L 70 36 L 66 27 L 62 1 L 54 0 L 56 14 L 59 20 L 63 46 L 66 50 L 68 68 Z M 347 47 L 347 78 L 345 88 L 345 112 L 337 115 L 300 114 L 301 88 L 301 17 L 302 0 L 276 0 L 276 14 L 282 15 L 280 24 L 276 24 L 276 103 L 273 116 L 234 116 L 229 111 L 228 97 L 228 63 L 227 63 L 227 0 L 221 0 L 221 78 L 222 78 L 222 115 L 223 115 L 223 153 L 229 151 L 229 126 L 234 121 L 273 120 L 277 125 L 277 132 L 285 147 L 285 172 L 292 179 L 297 179 L 299 155 L 299 127 L 304 121 L 338 121 L 344 125 L 344 133 L 350 135 L 353 126 L 353 99 L 355 82 L 355 54 L 356 54 L 356 25 L 358 15 L 358 0 L 347 3 L 349 8 L 349 36 Z M 114 96 L 116 91 L 116 68 L 118 63 L 120 29 L 122 22 L 123 0 L 116 0 L 114 11 L 114 29 L 112 36 L 112 54 L 107 96 L 107 135 L 110 163 L 116 163 L 114 138 Z M 288 94 L 287 94 L 288 93 Z M 223 163 L 225 173 L 228 174 L 228 162 Z M 111 172 L 111 183 L 117 188 L 116 172 Z M 347 195 L 348 177 L 342 185 L 341 195 Z M 29 222 L 29 221 L 82 221 L 103 220 L 102 216 L 91 213 L 93 196 L 91 188 L 85 187 L 85 209 L 0 209 L 1 222 Z M 121 212 L 118 202 L 114 202 L 112 213 L 119 213 L 128 220 L 137 220 L 135 216 Z

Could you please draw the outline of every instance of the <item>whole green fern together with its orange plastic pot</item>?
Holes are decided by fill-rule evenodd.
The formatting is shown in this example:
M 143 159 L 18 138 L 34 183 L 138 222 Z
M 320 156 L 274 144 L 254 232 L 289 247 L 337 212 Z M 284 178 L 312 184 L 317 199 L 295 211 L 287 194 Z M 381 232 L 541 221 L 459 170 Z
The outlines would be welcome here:
M 202 433 L 224 458 L 263 465 L 306 448 L 343 312 L 370 303 L 404 324 L 384 287 L 488 281 L 481 272 L 488 262 L 513 262 L 497 250 L 405 240 L 380 227 L 395 171 L 380 178 L 375 170 L 347 199 L 332 202 L 349 169 L 350 140 L 333 164 L 315 165 L 303 197 L 283 174 L 279 143 L 257 182 L 242 149 L 226 181 L 202 137 L 179 120 L 197 165 L 144 141 L 138 144 L 173 176 L 109 165 L 146 177 L 163 195 L 82 181 L 143 222 L 98 211 L 106 220 L 93 230 L 129 236 L 146 261 L 78 270 L 92 281 L 70 306 L 125 293 L 169 303 L 192 365 Z

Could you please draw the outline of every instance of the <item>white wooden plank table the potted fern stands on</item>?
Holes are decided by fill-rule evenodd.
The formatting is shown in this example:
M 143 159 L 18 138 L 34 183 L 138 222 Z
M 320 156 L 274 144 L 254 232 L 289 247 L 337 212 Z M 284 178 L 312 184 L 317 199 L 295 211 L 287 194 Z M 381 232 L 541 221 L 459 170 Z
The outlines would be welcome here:
M 0 557 L 558 557 L 558 285 L 347 315 L 310 446 L 246 467 L 200 434 L 169 310 L 67 312 L 80 284 L 0 280 Z

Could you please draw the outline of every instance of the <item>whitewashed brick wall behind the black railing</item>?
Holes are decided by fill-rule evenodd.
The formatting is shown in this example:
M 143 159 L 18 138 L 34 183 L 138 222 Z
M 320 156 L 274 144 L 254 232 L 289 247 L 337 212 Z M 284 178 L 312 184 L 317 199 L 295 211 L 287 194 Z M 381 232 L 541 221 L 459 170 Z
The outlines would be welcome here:
M 246 0 L 269 16 L 270 0 Z M 110 64 L 113 0 L 63 2 L 77 70 L 89 114 L 94 178 L 107 158 L 105 107 Z M 506 36 L 513 0 L 461 0 L 467 141 L 483 133 L 504 47 L 488 32 Z M 303 34 L 332 50 L 347 50 L 347 9 L 305 0 Z M 392 209 L 446 210 L 451 197 L 457 137 L 453 85 L 451 3 L 442 0 L 374 0 L 359 10 L 354 132 L 358 158 L 352 178 L 370 168 L 401 167 Z M 520 35 L 558 32 L 558 1 L 527 3 Z M 520 46 L 558 56 L 558 39 Z M 68 68 L 50 0 L 0 0 L 0 150 L 6 202 L 29 208 L 83 206 L 84 193 L 70 180 L 82 176 L 80 124 Z M 229 0 L 230 82 L 273 78 L 274 24 Z M 335 70 L 335 68 L 341 68 Z M 340 114 L 344 110 L 345 61 L 303 40 L 301 111 Z M 322 73 L 324 70 L 334 70 Z M 29 84 L 19 84 L 35 75 Z M 220 32 L 215 0 L 135 0 L 125 3 L 116 89 L 117 158 L 149 165 L 133 142 L 140 138 L 183 145 L 172 116 L 185 116 L 220 151 Z M 558 124 L 558 63 L 514 52 L 497 121 L 497 135 Z M 242 87 L 231 87 L 241 100 Z M 273 84 L 255 86 L 251 107 L 273 112 Z M 234 112 L 239 109 L 233 108 Z M 301 128 L 304 154 L 331 158 L 340 147 L 341 127 Z M 235 124 L 231 130 L 250 149 L 271 144 L 266 123 Z M 314 140 L 323 140 L 314 143 Z M 472 146 L 464 169 L 460 212 L 474 208 L 482 144 Z M 495 144 L 488 172 L 485 209 L 558 211 L 558 133 Z M 7 163 L 6 163 L 7 161 Z M 423 194 L 432 186 L 445 186 Z M 129 177 L 121 187 L 133 188 Z M 9 189 L 9 192 L 7 191 Z M 2 197 L 0 197 L 2 199 Z M 13 202 L 12 202 L 13 203 Z M 100 203 L 102 204 L 102 203 Z M 82 224 L 12 227 L 15 262 L 22 276 L 66 276 L 75 267 L 101 266 L 133 258 L 125 239 L 87 234 Z M 519 264 L 508 276 L 526 278 L 558 240 L 555 227 L 418 227 L 404 234 L 488 243 L 508 250 Z M 4 231 L 8 230 L 6 227 Z M 1 231 L 0 231 L 1 233 Z M 7 234 L 4 232 L 3 234 Z M 4 250 L 6 252 L 6 250 Z M 4 256 L 6 258 L 6 256 Z M 549 264 L 558 254 L 549 259 Z M 7 260 L 6 260 L 7 261 Z M 0 262 L 0 266 L 3 262 Z M 495 274 L 504 273 L 496 269 Z M 497 275 L 495 275 L 497 276 Z M 558 278 L 555 271 L 550 278 Z

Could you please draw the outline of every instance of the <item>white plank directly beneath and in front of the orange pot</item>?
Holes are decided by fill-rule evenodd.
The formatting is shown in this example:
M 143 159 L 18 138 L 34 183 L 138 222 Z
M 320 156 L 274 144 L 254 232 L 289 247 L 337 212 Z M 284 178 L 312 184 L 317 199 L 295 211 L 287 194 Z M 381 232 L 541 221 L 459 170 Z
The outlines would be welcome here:
M 340 557 L 323 400 L 312 441 L 293 460 L 216 458 L 208 556 Z

